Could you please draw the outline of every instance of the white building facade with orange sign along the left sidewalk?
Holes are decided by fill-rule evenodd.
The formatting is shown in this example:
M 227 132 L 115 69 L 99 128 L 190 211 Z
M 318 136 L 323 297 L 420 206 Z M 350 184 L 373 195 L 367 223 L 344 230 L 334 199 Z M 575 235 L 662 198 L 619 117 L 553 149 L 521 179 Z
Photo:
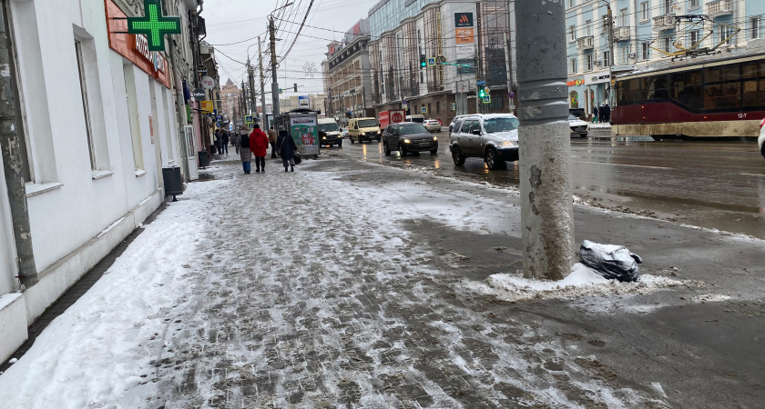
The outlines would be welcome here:
M 168 54 L 150 53 L 145 38 L 118 33 L 125 31 L 122 17 L 142 15 L 143 2 L 4 3 L 13 27 L 6 35 L 15 46 L 26 151 L 19 155 L 38 281 L 24 287 L 18 278 L 14 221 L 0 178 L 0 360 L 48 305 L 158 208 L 162 168 L 185 157 L 176 99 L 182 92 Z M 197 5 L 171 3 L 178 11 Z

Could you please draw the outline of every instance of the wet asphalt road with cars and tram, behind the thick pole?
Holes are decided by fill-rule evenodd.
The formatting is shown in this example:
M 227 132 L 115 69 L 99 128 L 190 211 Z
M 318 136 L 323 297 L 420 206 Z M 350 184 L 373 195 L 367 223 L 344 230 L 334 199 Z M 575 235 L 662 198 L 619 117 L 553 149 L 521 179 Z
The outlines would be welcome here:
M 385 156 L 377 142 L 324 148 L 329 155 L 365 158 L 463 180 L 517 187 L 518 165 L 489 171 L 478 158 L 455 166 L 448 133 L 438 155 Z M 574 195 L 589 205 L 765 239 L 765 158 L 754 139 L 654 141 L 650 137 L 571 139 Z

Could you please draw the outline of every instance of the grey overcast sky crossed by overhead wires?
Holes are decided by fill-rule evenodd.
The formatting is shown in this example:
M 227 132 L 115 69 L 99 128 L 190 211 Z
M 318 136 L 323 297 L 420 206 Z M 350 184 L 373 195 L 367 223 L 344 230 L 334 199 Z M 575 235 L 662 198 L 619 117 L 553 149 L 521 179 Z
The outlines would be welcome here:
M 279 85 L 284 90 L 284 95 L 295 95 L 292 85 L 297 83 L 299 92 L 297 95 L 321 94 L 321 61 L 326 56 L 327 44 L 332 39 L 342 38 L 341 33 L 351 29 L 357 21 L 365 18 L 379 0 L 207 0 L 204 3 L 202 16 L 207 23 L 207 41 L 218 50 L 216 58 L 219 64 L 220 81 L 225 82 L 231 78 L 240 85 L 244 79 L 244 63 L 247 62 L 247 49 L 250 46 L 250 60 L 254 66 L 258 62 L 258 39 L 250 38 L 260 35 L 263 42 L 263 52 L 268 45 L 268 15 L 270 12 L 288 1 L 293 5 L 285 7 L 277 12 L 276 16 L 294 24 L 276 21 L 280 32 L 277 38 L 276 54 L 284 55 L 298 32 L 301 21 L 306 15 L 308 6 L 311 12 L 305 21 L 306 25 L 321 27 L 324 29 L 304 26 L 297 43 L 287 59 L 283 61 L 279 73 Z M 328 29 L 328 30 L 326 30 Z M 318 38 L 314 38 L 318 37 Z M 238 43 L 238 44 L 233 44 Z M 228 55 L 228 56 L 227 56 Z M 236 60 L 232 61 L 232 60 Z M 306 63 L 315 64 L 316 73 L 313 77 L 305 75 L 303 66 Z M 263 59 L 263 67 L 270 61 Z M 267 76 L 266 89 L 270 88 L 270 75 Z M 256 71 L 256 86 L 260 79 Z

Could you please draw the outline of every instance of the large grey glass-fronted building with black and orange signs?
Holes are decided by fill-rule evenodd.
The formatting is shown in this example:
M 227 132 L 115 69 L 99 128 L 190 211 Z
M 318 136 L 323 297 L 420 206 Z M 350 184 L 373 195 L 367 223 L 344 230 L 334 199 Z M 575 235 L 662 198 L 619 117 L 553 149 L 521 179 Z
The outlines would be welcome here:
M 444 122 L 458 114 L 511 111 L 513 7 L 507 1 L 378 2 L 369 12 L 372 106 Z M 490 89 L 486 104 L 476 104 L 479 81 Z

